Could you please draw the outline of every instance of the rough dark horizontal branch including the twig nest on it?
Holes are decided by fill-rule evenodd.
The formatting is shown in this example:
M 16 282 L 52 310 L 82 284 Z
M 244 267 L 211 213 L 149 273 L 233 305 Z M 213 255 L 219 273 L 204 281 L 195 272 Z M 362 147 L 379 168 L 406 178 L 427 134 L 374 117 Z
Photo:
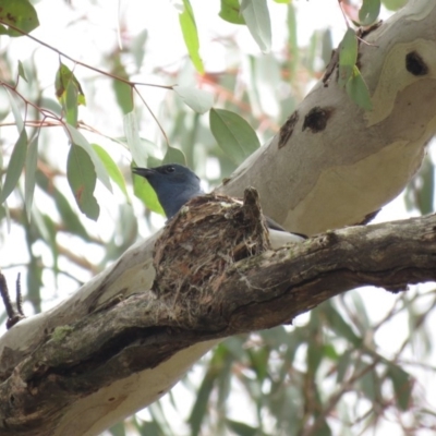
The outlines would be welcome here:
M 77 434 L 60 433 L 65 408 L 132 374 L 165 365 L 181 350 L 290 322 L 355 287 L 403 291 L 410 283 L 436 280 L 435 216 L 347 228 L 271 251 L 266 250 L 265 228 L 252 214 L 255 208 L 217 198 L 220 211 L 213 213 L 202 202 L 171 221 L 157 242 L 153 290 L 116 299 L 56 328 L 3 372 L 2 435 Z M 196 206 L 206 215 L 196 215 Z M 199 254 L 196 243 L 207 239 L 203 249 L 208 251 Z M 182 257 L 177 264 L 168 258 L 178 250 L 174 240 Z M 226 250 L 240 259 L 234 262 Z M 165 268 L 166 261 L 172 270 Z M 184 280 L 173 288 L 173 280 L 166 280 L 180 277 L 177 268 L 185 268 Z

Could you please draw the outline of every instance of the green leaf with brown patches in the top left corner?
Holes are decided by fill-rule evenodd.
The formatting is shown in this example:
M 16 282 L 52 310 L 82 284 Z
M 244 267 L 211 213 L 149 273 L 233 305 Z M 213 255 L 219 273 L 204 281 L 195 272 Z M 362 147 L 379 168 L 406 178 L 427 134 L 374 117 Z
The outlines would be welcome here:
M 39 26 L 38 15 L 28 0 L 0 0 L 0 21 L 24 33 Z M 0 24 L 0 35 L 23 36 L 20 32 Z

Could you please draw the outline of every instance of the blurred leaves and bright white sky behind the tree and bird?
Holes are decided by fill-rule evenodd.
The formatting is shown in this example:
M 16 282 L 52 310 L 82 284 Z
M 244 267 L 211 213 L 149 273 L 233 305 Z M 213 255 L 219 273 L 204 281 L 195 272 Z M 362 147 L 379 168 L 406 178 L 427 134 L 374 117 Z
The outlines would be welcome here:
M 187 164 L 206 189 L 218 184 L 278 132 L 334 41 L 343 87 L 371 109 L 353 23 L 371 25 L 405 1 L 342 1 L 342 16 L 330 0 L 337 27 L 314 28 L 320 2 L 0 0 L 0 265 L 10 281 L 25 277 L 27 314 L 161 226 L 132 161 Z M 431 158 L 403 198 L 410 213 L 433 211 Z M 229 338 L 110 433 L 434 434 L 435 304 L 431 286 L 399 296 L 365 289 L 294 326 Z

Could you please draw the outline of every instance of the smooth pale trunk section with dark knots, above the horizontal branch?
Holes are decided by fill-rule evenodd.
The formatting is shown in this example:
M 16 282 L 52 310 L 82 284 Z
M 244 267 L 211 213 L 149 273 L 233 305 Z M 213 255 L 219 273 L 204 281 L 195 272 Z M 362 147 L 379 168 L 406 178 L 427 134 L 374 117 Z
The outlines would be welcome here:
M 361 223 L 397 196 L 436 130 L 435 26 L 435 1 L 409 1 L 359 47 L 374 110 L 350 101 L 330 65 L 326 83 L 222 192 L 240 196 L 256 187 L 266 215 L 305 234 Z

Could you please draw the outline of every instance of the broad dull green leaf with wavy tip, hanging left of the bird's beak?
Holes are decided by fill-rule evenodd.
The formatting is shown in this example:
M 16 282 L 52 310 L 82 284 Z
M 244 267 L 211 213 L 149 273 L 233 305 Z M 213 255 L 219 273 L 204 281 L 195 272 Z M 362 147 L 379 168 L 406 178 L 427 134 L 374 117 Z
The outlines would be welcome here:
M 94 196 L 97 174 L 89 155 L 74 144 L 71 145 L 68 156 L 66 179 L 81 211 L 96 221 L 100 214 Z

